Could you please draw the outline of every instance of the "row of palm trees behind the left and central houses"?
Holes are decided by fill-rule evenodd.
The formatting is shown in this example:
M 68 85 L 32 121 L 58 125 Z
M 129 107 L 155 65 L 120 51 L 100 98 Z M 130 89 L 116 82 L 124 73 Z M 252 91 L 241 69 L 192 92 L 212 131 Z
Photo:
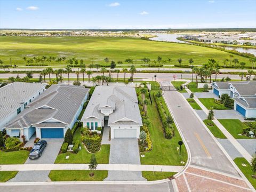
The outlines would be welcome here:
M 76 77 L 77 77 L 77 82 L 79 82 L 79 79 L 80 79 L 80 74 L 83 75 L 83 82 L 84 82 L 84 75 L 86 74 L 88 76 L 88 81 L 90 83 L 90 80 L 92 80 L 93 82 L 99 82 L 102 81 L 102 85 L 104 82 L 110 82 L 111 80 L 111 73 L 113 73 L 113 69 L 111 70 L 107 70 L 105 67 L 101 68 L 101 73 L 103 74 L 102 76 L 98 75 L 96 77 L 91 77 L 91 75 L 93 74 L 92 72 L 92 69 L 91 70 L 86 70 L 85 68 L 81 68 L 80 70 L 78 69 L 78 71 L 75 71 L 75 74 L 76 74 Z M 55 69 L 53 70 L 51 67 L 47 67 L 46 69 L 42 70 L 41 71 L 41 75 L 44 77 L 44 82 L 46 82 L 46 75 L 49 75 L 49 80 L 51 82 L 52 78 L 51 78 L 51 74 L 55 75 L 55 81 L 57 83 L 62 83 L 63 81 L 63 76 L 62 74 L 68 74 L 68 82 L 70 82 L 70 73 L 72 73 L 72 69 L 71 67 L 66 67 L 65 69 Z M 131 80 L 133 81 L 133 76 L 134 76 L 134 73 L 136 73 L 136 68 L 135 66 L 131 66 L 130 70 L 126 69 L 126 68 L 123 68 L 122 70 L 115 70 L 115 72 L 117 73 L 117 81 L 118 81 L 118 78 L 119 78 L 119 73 L 124 73 L 124 82 L 126 81 L 126 74 L 127 73 L 130 73 L 131 74 Z M 105 73 L 108 73 L 109 76 L 105 76 Z

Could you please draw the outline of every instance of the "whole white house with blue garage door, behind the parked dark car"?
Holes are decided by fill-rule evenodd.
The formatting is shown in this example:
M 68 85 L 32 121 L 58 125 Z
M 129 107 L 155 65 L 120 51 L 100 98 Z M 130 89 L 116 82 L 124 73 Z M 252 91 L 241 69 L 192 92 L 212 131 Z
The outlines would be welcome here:
M 63 138 L 77 121 L 88 93 L 83 86 L 52 85 L 6 126 L 6 132 L 11 137 L 25 135 L 26 140 L 35 132 L 38 138 Z

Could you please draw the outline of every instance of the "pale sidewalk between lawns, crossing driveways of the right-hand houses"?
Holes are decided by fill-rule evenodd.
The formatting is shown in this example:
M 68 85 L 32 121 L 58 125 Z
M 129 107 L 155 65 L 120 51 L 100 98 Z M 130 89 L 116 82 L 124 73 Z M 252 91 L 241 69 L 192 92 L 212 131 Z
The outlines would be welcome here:
M 189 89 L 186 91 L 191 94 L 192 92 Z M 203 103 L 194 96 L 194 100 L 196 103 L 202 108 L 206 115 L 209 114 L 209 110 L 203 105 Z M 218 126 L 220 131 L 227 137 L 227 139 L 232 143 L 232 145 L 239 151 L 239 153 L 249 162 L 251 163 L 252 156 L 243 148 L 243 146 L 225 129 L 225 127 L 218 121 L 217 118 L 214 117 L 212 120 L 213 123 Z

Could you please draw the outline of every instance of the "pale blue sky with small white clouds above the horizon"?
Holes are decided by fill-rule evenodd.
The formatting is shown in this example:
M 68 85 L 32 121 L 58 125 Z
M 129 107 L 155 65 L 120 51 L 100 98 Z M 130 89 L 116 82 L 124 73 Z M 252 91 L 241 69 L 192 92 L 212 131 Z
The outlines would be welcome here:
M 0 0 L 0 28 L 256 27 L 255 0 Z

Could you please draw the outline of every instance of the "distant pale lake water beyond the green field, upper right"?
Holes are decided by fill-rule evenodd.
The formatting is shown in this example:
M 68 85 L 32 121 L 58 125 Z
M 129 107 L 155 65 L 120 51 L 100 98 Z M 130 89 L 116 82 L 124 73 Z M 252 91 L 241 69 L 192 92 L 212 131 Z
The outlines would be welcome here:
M 157 37 L 149 38 L 152 41 L 189 43 L 189 42 L 180 41 L 180 40 L 177 39 L 178 37 L 183 36 L 181 34 L 161 34 L 161 33 L 157 33 L 157 34 L 152 34 L 152 35 L 157 35 Z M 219 46 L 219 47 L 225 48 L 227 50 L 238 51 L 238 52 L 241 52 L 241 53 L 251 53 L 251 54 L 254 54 L 256 56 L 256 48 L 233 47 L 233 46 Z

